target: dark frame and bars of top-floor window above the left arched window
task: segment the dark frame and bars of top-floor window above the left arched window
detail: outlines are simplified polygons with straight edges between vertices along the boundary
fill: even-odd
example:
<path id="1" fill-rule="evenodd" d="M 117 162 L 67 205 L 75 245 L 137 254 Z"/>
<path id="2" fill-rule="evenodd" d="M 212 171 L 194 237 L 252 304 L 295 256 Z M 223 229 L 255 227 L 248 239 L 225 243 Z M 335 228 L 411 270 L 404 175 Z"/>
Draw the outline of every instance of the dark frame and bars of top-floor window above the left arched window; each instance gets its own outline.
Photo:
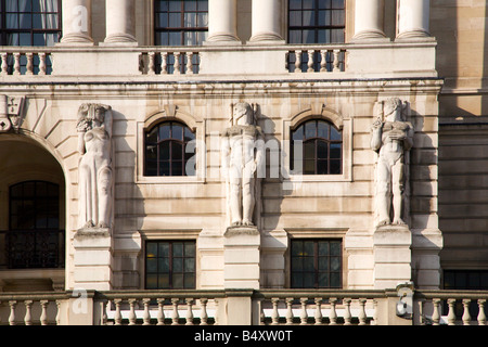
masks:
<path id="1" fill-rule="evenodd" d="M 203 42 L 206 40 L 205 33 L 208 33 L 208 0 L 197 0 L 196 1 L 196 10 L 195 11 L 187 11 L 184 9 L 184 4 L 185 4 L 184 0 L 181 1 L 181 9 L 180 9 L 180 11 L 170 11 L 169 7 L 168 7 L 167 11 L 157 11 L 157 9 L 158 9 L 157 2 L 159 0 L 154 0 L 153 1 L 153 9 L 154 9 L 154 11 L 153 11 L 154 46 L 163 46 L 163 47 L 202 46 Z M 200 10 L 198 3 L 204 2 L 204 1 L 207 3 L 206 10 Z M 167 15 L 168 15 L 168 17 L 167 17 L 168 26 L 158 26 L 158 15 L 162 14 L 162 13 L 167 13 Z M 171 13 L 179 13 L 180 14 L 180 18 L 178 21 L 180 26 L 169 26 L 169 23 L 170 23 L 169 16 L 170 16 Z M 207 14 L 207 25 L 206 26 L 198 26 L 197 25 L 195 27 L 185 26 L 184 25 L 184 15 L 187 13 L 195 13 L 196 16 L 198 16 L 198 14 L 201 14 L 201 13 L 206 13 Z M 168 44 L 162 44 L 160 42 L 157 42 L 157 40 L 158 40 L 157 36 L 158 36 L 159 33 L 168 33 L 168 35 L 171 34 L 171 33 L 179 33 L 180 34 L 180 43 L 179 44 L 169 44 L 169 42 L 170 42 L 169 37 L 168 37 Z M 202 34 L 203 35 L 202 42 L 198 42 L 198 40 L 197 40 L 197 42 L 195 44 L 185 44 L 184 35 L 188 34 L 188 33 L 194 33 L 196 35 Z"/>

